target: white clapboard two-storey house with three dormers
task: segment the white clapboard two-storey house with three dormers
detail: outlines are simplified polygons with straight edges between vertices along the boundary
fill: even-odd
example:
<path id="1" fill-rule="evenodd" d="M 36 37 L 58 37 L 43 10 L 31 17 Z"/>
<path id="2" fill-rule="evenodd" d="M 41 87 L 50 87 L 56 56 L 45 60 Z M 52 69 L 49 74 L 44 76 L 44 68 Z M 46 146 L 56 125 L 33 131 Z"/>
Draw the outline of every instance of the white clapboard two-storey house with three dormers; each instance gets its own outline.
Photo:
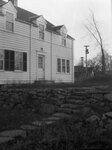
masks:
<path id="1" fill-rule="evenodd" d="M 73 41 L 64 25 L 0 0 L 0 84 L 74 82 Z"/>

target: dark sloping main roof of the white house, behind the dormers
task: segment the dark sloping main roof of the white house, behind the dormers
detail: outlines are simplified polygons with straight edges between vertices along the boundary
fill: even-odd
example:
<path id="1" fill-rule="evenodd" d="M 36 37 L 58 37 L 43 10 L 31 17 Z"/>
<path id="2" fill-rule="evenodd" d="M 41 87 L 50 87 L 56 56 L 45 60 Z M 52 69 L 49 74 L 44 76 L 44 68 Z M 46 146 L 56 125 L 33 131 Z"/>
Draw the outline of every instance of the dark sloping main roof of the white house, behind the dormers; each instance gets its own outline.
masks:
<path id="1" fill-rule="evenodd" d="M 0 6 L 6 4 L 7 2 L 3 1 L 3 0 L 0 0 Z M 23 8 L 20 8 L 20 7 L 17 7 L 15 6 L 16 10 L 17 10 L 17 19 L 20 20 L 20 21 L 23 21 L 23 22 L 26 22 L 26 23 L 31 23 L 31 19 L 32 17 L 35 17 L 35 18 L 38 18 L 40 17 L 39 15 L 37 14 L 34 14 L 30 11 L 27 11 Z M 53 25 L 52 23 L 50 23 L 49 21 L 47 21 L 47 26 L 46 26 L 46 29 L 47 30 L 50 30 L 50 31 L 53 31 L 53 32 L 56 32 L 57 34 L 59 34 L 58 30 L 60 30 L 63 25 L 61 26 L 55 26 Z M 72 38 L 71 36 L 68 35 L 68 38 Z M 72 38 L 73 39 L 73 38 Z"/>

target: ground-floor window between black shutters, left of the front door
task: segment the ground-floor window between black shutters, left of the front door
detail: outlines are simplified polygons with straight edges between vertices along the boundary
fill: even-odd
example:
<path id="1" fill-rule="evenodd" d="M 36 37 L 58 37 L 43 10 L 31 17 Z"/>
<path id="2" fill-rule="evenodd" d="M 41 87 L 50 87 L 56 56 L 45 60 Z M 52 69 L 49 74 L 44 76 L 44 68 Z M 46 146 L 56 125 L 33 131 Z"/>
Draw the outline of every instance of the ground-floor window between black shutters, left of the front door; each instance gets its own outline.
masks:
<path id="1" fill-rule="evenodd" d="M 15 70 L 23 70 L 23 53 L 15 52 Z"/>

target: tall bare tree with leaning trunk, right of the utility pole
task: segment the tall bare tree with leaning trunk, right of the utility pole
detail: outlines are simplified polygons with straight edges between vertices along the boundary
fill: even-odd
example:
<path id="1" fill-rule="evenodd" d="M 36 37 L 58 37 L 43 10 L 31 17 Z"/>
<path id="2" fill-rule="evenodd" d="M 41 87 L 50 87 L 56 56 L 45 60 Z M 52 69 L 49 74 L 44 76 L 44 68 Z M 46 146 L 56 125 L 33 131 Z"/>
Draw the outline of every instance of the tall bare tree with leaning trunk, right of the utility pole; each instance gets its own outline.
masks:
<path id="1" fill-rule="evenodd" d="M 103 47 L 103 38 L 101 32 L 98 28 L 97 22 L 94 17 L 94 13 L 91 11 L 91 20 L 88 20 L 88 25 L 84 25 L 89 34 L 95 39 L 98 46 L 100 46 L 101 54 L 102 54 L 102 73 L 105 73 L 105 54 L 104 54 L 104 47 Z"/>

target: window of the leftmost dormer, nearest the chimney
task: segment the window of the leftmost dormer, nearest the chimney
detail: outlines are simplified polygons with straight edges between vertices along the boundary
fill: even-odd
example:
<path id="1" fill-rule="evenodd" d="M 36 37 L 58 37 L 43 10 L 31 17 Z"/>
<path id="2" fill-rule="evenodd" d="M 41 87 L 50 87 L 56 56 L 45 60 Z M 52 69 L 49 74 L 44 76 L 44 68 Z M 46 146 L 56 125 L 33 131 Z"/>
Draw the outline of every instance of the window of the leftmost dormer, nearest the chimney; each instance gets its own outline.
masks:
<path id="1" fill-rule="evenodd" d="M 6 30 L 14 31 L 13 14 L 9 12 L 6 12 Z"/>

